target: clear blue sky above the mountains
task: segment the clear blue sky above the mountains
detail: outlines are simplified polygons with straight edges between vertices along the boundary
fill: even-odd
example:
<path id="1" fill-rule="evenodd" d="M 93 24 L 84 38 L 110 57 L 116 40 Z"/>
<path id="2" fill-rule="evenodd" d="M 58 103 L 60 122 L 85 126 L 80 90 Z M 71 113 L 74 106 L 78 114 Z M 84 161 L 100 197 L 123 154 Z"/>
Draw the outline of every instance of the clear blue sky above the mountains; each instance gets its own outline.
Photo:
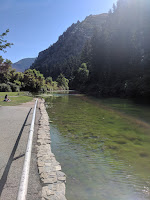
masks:
<path id="1" fill-rule="evenodd" d="M 0 34 L 14 45 L 0 52 L 13 63 L 34 58 L 78 20 L 107 13 L 117 0 L 0 0 Z"/>

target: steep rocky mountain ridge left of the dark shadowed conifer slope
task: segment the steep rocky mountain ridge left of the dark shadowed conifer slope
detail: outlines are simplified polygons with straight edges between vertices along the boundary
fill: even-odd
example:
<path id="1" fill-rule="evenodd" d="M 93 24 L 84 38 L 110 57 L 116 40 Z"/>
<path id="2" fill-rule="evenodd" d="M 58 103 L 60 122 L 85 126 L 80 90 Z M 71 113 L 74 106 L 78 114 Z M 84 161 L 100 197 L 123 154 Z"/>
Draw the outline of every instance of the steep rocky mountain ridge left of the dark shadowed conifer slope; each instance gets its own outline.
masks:
<path id="1" fill-rule="evenodd" d="M 31 68 L 39 70 L 46 77 L 54 79 L 63 73 L 70 77 L 73 68 L 87 40 L 92 38 L 95 30 L 100 32 L 106 22 L 107 14 L 90 15 L 84 21 L 73 23 L 48 49 L 39 53 Z"/>

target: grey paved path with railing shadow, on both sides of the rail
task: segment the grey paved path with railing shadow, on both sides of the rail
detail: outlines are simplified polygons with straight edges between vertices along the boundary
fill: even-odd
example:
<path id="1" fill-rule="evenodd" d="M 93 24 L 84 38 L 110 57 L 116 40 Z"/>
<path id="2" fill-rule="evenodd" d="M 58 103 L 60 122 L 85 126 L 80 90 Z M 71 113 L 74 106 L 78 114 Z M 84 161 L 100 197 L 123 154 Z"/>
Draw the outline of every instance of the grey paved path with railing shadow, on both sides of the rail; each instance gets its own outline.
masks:
<path id="1" fill-rule="evenodd" d="M 23 168 L 34 101 L 21 106 L 0 107 L 0 200 L 15 200 Z M 37 108 L 28 200 L 40 199 L 41 185 L 36 165 Z"/>

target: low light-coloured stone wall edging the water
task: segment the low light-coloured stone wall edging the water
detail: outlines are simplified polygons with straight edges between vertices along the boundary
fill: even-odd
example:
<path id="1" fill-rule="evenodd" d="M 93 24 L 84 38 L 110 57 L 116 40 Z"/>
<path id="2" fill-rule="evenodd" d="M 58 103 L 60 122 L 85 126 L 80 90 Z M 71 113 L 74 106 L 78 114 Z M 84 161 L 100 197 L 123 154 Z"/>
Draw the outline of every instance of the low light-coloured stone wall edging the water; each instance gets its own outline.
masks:
<path id="1" fill-rule="evenodd" d="M 51 152 L 49 117 L 44 100 L 40 101 L 41 119 L 37 140 L 37 165 L 42 183 L 42 200 L 66 200 L 66 175 Z"/>

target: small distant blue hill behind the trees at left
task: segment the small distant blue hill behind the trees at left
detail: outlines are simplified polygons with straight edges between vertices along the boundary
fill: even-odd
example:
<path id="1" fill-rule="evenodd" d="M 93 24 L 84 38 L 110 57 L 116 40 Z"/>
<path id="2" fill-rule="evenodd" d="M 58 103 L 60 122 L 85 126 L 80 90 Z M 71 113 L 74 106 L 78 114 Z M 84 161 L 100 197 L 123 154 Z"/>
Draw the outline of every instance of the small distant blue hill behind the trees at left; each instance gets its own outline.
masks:
<path id="1" fill-rule="evenodd" d="M 26 69 L 30 68 L 35 58 L 24 58 L 16 63 L 12 64 L 12 68 L 16 69 L 17 72 L 24 72 Z"/>

